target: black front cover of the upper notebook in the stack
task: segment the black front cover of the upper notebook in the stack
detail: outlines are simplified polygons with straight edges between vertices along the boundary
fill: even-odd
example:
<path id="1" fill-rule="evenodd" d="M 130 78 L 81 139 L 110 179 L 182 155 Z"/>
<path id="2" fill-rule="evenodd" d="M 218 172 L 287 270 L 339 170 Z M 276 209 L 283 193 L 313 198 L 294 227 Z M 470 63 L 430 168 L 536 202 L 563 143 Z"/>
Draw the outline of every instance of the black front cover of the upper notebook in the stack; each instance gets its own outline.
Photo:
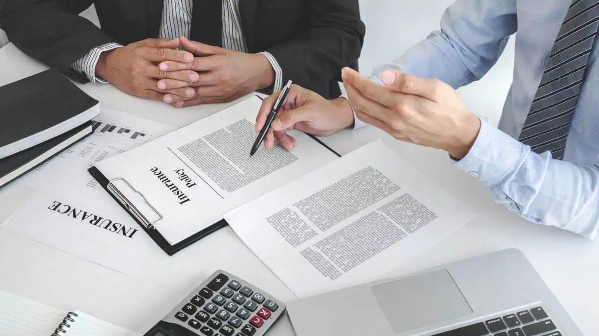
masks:
<path id="1" fill-rule="evenodd" d="M 49 69 L 0 87 L 0 147 L 49 129 L 98 104 Z"/>

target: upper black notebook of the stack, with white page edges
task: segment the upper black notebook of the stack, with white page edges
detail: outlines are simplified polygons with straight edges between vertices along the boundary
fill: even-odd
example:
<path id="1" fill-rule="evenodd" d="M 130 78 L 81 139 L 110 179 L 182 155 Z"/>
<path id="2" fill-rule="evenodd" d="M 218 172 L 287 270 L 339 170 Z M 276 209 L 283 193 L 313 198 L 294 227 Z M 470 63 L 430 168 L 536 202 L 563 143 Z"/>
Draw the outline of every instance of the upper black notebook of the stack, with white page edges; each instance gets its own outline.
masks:
<path id="1" fill-rule="evenodd" d="M 0 87 L 0 159 L 56 138 L 100 113 L 98 100 L 49 69 Z"/>

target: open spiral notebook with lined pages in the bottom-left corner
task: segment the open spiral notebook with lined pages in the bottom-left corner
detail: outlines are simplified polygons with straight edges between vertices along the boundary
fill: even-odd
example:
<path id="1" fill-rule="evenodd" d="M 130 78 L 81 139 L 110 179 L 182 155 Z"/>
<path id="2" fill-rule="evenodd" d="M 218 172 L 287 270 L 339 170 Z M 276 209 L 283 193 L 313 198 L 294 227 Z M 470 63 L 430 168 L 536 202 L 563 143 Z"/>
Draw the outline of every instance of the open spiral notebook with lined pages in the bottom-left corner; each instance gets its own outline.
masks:
<path id="1" fill-rule="evenodd" d="M 0 291 L 0 336 L 141 336 L 80 311 Z"/>

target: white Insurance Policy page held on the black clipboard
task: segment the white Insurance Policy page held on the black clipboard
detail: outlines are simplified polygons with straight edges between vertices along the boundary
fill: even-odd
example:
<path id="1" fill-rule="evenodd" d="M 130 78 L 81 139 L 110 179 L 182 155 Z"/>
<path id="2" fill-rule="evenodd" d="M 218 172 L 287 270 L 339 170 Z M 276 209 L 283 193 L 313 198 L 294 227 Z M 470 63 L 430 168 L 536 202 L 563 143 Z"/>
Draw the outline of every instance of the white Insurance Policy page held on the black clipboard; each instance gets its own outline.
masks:
<path id="1" fill-rule="evenodd" d="M 293 151 L 262 146 L 250 157 L 261 104 L 251 97 L 96 167 L 109 181 L 121 178 L 141 194 L 162 216 L 156 230 L 174 245 L 223 213 L 337 158 L 299 132 L 291 132 L 297 140 Z M 126 184 L 117 182 L 125 193 Z"/>

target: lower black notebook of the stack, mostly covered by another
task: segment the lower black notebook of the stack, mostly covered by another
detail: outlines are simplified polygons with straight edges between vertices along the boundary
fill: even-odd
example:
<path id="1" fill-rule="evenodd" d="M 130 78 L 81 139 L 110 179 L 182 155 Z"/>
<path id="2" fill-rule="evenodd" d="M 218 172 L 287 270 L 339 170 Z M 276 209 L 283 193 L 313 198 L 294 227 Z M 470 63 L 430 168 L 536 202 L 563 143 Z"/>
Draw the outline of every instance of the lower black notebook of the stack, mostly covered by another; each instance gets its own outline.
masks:
<path id="1" fill-rule="evenodd" d="M 77 126 L 74 129 L 35 145 L 17 154 L 0 159 L 0 187 L 8 184 L 24 173 L 34 169 L 38 164 L 52 158 L 73 143 L 93 133 L 92 122 Z"/>

